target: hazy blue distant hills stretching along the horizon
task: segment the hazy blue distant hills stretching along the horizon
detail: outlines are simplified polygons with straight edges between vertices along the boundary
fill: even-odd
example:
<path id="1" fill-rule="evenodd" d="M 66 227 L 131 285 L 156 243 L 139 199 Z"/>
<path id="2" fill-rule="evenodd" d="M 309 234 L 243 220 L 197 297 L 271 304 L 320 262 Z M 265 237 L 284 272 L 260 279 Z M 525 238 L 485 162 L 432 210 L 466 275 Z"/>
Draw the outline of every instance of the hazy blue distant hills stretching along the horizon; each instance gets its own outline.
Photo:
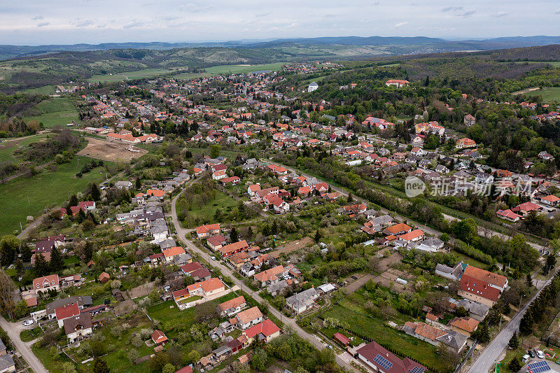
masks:
<path id="1" fill-rule="evenodd" d="M 426 36 L 333 36 L 320 38 L 282 38 L 272 41 L 223 41 L 201 43 L 102 43 L 102 44 L 72 44 L 72 45 L 0 45 L 0 60 L 33 55 L 44 55 L 52 52 L 87 52 L 94 50 L 113 49 L 146 49 L 170 50 L 175 48 L 309 48 L 321 46 L 333 50 L 345 47 L 384 47 L 378 55 L 402 55 L 426 52 L 456 52 L 460 50 L 495 50 L 505 48 L 520 48 L 537 45 L 560 43 L 560 36 L 511 36 L 503 38 L 489 38 L 484 40 L 449 41 L 442 38 Z M 348 49 L 348 48 L 343 48 Z M 359 48 L 353 48 L 358 50 Z M 374 55 L 376 48 L 367 48 L 364 55 Z M 336 54 L 336 53 L 335 53 Z M 352 55 L 359 55 L 353 52 Z"/>

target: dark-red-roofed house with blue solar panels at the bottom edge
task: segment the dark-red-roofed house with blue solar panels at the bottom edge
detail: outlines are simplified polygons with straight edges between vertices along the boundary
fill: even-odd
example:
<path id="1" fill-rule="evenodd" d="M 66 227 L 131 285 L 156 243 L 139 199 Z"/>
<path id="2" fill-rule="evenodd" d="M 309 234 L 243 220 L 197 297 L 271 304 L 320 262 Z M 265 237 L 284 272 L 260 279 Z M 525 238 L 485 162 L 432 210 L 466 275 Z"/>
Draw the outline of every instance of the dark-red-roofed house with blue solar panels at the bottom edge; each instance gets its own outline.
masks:
<path id="1" fill-rule="evenodd" d="M 356 351 L 358 360 L 379 373 L 423 373 L 426 367 L 409 358 L 400 359 L 377 342 L 370 342 Z"/>

